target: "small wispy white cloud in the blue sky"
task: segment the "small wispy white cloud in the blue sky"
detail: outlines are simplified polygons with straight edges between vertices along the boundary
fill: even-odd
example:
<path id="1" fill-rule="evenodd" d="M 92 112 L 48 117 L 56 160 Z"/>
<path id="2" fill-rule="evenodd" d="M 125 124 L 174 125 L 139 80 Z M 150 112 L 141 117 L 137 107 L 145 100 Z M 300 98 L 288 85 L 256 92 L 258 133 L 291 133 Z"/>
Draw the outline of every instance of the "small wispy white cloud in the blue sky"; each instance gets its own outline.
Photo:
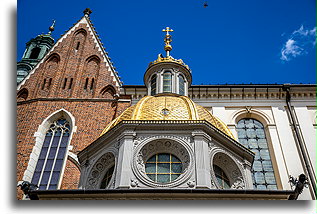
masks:
<path id="1" fill-rule="evenodd" d="M 289 36 L 289 39 L 283 45 L 280 59 L 290 61 L 297 56 L 307 54 L 315 45 L 316 27 L 309 30 L 302 25 Z"/>

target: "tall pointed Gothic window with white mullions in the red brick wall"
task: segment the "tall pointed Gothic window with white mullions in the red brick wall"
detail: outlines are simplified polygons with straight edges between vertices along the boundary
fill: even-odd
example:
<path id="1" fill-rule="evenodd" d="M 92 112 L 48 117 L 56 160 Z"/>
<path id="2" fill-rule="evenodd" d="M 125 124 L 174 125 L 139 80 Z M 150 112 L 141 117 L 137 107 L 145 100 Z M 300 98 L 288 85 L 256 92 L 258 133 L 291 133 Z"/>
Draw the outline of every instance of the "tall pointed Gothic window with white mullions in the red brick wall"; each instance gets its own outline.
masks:
<path id="1" fill-rule="evenodd" d="M 57 189 L 70 136 L 69 122 L 63 117 L 51 123 L 46 132 L 32 183 L 39 189 Z"/>

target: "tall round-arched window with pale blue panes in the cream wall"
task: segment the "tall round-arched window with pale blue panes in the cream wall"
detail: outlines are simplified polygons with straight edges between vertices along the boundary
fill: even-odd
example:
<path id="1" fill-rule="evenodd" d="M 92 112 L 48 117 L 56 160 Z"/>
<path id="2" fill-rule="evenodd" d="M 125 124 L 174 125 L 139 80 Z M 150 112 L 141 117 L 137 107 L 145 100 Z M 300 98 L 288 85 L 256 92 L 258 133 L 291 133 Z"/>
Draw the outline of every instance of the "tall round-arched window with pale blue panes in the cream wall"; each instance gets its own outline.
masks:
<path id="1" fill-rule="evenodd" d="M 262 123 L 245 118 L 237 125 L 239 142 L 255 152 L 252 166 L 253 186 L 255 189 L 277 189 L 270 152 Z"/>

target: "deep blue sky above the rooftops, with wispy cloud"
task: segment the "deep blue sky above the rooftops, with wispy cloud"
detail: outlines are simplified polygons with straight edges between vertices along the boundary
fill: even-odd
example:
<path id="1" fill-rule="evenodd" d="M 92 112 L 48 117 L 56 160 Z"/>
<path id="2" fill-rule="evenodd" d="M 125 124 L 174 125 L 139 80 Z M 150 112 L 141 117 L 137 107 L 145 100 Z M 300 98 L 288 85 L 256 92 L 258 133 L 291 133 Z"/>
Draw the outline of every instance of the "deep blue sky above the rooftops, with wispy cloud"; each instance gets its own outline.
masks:
<path id="1" fill-rule="evenodd" d="M 189 65 L 193 84 L 316 83 L 315 0 L 207 2 L 19 0 L 17 60 L 52 19 L 57 40 L 89 7 L 124 84 L 143 85 L 148 63 L 165 54 L 166 26 L 174 30 L 171 55 Z"/>

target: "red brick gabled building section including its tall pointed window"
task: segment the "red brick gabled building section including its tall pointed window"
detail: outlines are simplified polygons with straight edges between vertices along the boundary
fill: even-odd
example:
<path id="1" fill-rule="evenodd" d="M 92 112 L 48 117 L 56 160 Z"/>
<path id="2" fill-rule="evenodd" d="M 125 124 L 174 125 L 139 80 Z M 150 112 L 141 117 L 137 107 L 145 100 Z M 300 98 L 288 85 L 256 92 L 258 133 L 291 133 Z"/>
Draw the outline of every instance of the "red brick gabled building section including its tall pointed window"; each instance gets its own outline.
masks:
<path id="1" fill-rule="evenodd" d="M 131 104 L 119 96 L 122 82 L 90 14 L 86 9 L 18 85 L 17 183 L 78 188 L 77 153 Z"/>

